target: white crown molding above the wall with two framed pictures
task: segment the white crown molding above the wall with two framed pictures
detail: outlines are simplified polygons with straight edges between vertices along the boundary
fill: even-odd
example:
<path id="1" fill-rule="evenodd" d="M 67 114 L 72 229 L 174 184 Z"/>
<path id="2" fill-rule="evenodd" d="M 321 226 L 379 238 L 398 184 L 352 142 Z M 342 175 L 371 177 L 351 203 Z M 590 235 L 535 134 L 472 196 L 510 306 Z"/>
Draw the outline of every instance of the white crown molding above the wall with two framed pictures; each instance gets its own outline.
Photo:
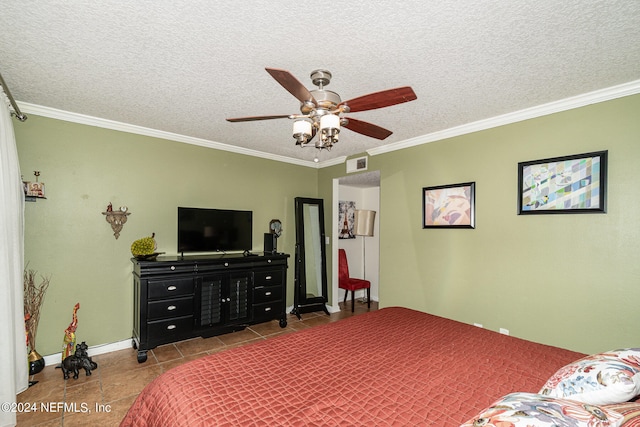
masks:
<path id="1" fill-rule="evenodd" d="M 389 153 L 392 151 L 402 150 L 404 148 L 415 147 L 417 145 L 440 141 L 455 136 L 466 135 L 473 132 L 533 119 L 536 117 L 542 117 L 549 114 L 585 107 L 591 104 L 610 101 L 612 99 L 636 95 L 638 93 L 640 93 L 640 80 L 635 80 L 621 85 L 588 92 L 570 98 L 565 98 L 560 101 L 554 101 L 548 104 L 542 104 L 535 107 L 526 108 L 524 110 L 503 114 L 501 116 L 467 123 L 461 126 L 444 129 L 442 131 L 433 132 L 404 141 L 371 148 L 367 150 L 367 154 L 375 156 L 377 154 Z"/>

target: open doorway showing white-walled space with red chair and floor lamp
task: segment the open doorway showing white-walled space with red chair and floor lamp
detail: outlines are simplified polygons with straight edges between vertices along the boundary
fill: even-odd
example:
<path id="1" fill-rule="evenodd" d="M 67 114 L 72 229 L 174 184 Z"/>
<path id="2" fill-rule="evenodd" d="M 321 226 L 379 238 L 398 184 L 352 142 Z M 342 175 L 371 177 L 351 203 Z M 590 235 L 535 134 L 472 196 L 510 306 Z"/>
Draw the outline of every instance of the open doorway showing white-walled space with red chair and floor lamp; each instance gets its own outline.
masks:
<path id="1" fill-rule="evenodd" d="M 373 236 L 341 236 L 344 224 L 339 224 L 340 202 L 349 202 L 355 209 L 376 212 Z M 351 276 L 371 282 L 371 300 L 379 301 L 380 276 L 380 171 L 350 174 L 333 180 L 332 201 L 332 280 L 331 311 L 339 311 L 344 290 L 338 288 L 338 249 L 342 248 L 349 259 Z M 344 216 L 343 216 L 344 218 Z M 341 238 L 342 237 L 342 238 Z M 364 291 L 356 292 L 356 301 L 365 297 Z M 356 304 L 358 304 L 356 302 Z"/>

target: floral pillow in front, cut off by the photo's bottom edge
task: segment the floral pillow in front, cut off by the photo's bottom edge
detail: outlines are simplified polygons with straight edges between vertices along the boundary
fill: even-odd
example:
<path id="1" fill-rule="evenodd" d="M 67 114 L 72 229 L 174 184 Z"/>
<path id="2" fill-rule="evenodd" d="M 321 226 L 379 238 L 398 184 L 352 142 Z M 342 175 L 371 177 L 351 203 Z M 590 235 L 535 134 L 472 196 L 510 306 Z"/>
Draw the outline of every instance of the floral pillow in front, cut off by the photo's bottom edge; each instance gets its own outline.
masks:
<path id="1" fill-rule="evenodd" d="M 534 393 L 511 393 L 460 427 L 619 427 L 622 415 Z"/>

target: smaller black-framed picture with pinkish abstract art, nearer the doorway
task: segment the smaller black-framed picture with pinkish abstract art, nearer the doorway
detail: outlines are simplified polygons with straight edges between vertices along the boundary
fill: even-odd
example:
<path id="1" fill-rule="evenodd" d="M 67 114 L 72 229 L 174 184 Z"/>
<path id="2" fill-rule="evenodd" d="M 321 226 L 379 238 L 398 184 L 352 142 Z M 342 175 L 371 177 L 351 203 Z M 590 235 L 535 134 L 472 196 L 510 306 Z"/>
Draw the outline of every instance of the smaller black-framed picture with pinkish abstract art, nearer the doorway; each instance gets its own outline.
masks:
<path id="1" fill-rule="evenodd" d="M 422 189 L 422 228 L 475 228 L 475 182 Z"/>

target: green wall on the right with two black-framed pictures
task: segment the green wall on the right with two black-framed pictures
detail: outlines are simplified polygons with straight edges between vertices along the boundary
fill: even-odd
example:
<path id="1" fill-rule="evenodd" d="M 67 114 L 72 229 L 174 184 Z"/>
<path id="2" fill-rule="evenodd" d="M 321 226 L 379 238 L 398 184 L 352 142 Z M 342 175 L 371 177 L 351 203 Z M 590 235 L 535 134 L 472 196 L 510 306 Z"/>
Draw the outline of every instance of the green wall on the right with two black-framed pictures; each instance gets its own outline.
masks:
<path id="1" fill-rule="evenodd" d="M 638 117 L 640 96 L 629 96 L 370 157 L 381 172 L 380 306 L 585 353 L 638 346 Z M 606 214 L 517 215 L 518 162 L 599 150 Z M 344 171 L 320 171 L 320 197 Z M 422 188 L 467 181 L 476 228 L 422 229 Z"/>

